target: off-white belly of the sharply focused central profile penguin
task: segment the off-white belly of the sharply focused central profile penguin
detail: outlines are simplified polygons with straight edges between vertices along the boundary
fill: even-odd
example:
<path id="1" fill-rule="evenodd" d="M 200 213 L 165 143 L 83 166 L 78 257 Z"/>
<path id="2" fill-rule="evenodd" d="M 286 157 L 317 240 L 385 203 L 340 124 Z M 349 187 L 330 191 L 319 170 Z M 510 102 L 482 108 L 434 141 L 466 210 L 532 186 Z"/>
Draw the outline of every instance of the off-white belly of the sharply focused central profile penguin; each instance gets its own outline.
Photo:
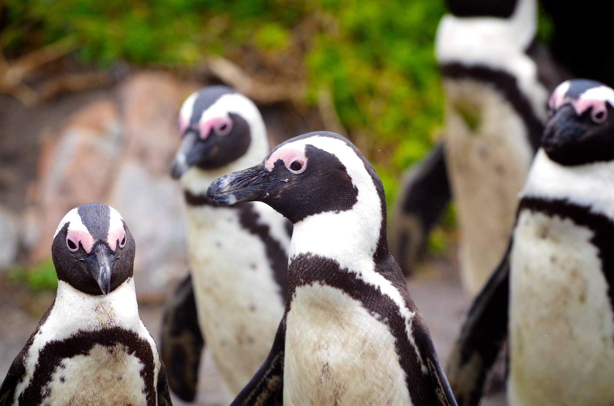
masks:
<path id="1" fill-rule="evenodd" d="M 394 337 L 348 294 L 298 287 L 286 326 L 284 405 L 411 405 Z"/>

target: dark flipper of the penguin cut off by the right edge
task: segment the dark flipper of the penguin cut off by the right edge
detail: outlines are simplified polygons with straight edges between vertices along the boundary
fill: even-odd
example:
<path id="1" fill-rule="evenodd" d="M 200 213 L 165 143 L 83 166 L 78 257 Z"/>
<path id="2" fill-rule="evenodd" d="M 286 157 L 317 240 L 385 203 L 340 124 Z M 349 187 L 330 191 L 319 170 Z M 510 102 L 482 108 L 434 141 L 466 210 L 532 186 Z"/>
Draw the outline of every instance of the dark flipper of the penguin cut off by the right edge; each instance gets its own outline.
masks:
<path id="1" fill-rule="evenodd" d="M 480 403 L 486 374 L 507 337 L 512 240 L 475 298 L 448 362 L 448 380 L 460 406 Z"/>

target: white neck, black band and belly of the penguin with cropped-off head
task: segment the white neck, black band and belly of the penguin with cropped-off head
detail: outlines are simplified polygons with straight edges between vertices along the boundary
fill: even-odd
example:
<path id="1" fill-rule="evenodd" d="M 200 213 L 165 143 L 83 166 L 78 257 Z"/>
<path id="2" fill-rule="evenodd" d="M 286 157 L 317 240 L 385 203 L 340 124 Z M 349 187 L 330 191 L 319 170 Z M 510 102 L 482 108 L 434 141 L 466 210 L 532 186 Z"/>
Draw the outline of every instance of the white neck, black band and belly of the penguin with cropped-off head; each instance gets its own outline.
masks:
<path id="1" fill-rule="evenodd" d="M 461 281 L 476 294 L 505 251 L 517 194 L 543 132 L 548 90 L 526 54 L 535 0 L 508 18 L 440 22 L 436 54 L 446 91 L 445 158 L 460 231 Z"/>

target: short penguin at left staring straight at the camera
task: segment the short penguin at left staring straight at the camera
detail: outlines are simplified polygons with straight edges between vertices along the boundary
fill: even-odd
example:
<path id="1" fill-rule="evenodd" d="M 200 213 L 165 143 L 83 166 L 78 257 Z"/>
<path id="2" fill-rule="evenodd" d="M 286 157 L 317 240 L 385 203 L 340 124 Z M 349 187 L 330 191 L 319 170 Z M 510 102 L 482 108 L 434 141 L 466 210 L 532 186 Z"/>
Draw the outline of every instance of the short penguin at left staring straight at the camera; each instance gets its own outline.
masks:
<path id="1" fill-rule="evenodd" d="M 0 405 L 171 405 L 139 318 L 134 239 L 106 204 L 72 209 L 53 237 L 58 291 L 0 387 Z"/>

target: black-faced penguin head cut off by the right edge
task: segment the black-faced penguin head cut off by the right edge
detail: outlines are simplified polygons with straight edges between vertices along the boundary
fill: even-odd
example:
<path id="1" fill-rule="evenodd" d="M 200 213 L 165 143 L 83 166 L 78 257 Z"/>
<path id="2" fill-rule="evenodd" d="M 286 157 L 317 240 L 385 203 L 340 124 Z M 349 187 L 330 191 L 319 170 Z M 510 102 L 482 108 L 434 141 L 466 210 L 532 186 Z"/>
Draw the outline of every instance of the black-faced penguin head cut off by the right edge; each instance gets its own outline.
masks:
<path id="1" fill-rule="evenodd" d="M 614 90 L 595 80 L 561 83 L 548 102 L 542 147 L 565 166 L 614 159 Z"/>

